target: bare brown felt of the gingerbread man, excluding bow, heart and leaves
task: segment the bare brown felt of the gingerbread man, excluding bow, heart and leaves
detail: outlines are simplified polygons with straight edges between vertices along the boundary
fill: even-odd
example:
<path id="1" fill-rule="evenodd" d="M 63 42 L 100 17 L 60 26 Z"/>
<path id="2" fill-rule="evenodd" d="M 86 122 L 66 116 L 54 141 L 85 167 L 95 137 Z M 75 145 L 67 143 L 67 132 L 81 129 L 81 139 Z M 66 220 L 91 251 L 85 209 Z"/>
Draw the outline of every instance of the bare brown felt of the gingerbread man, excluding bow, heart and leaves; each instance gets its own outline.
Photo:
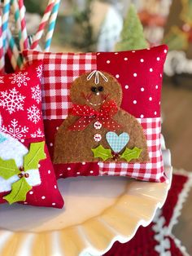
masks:
<path id="1" fill-rule="evenodd" d="M 91 90 L 91 86 L 94 84 L 94 77 L 90 81 L 87 81 L 86 77 L 89 73 L 83 74 L 81 77 L 76 78 L 72 83 L 71 88 L 71 99 L 73 104 L 87 104 L 91 108 L 98 109 L 99 106 L 90 105 L 89 102 L 98 104 L 103 100 L 101 95 L 108 95 L 107 100 L 114 100 L 118 106 L 121 104 L 122 90 L 120 84 L 116 81 L 115 77 L 112 77 L 108 73 L 103 73 L 107 78 L 108 82 L 104 82 L 100 79 L 100 83 L 97 86 L 103 86 L 104 90 L 100 95 L 95 95 Z M 84 95 L 92 95 L 89 98 L 89 102 L 85 99 Z M 75 123 L 79 117 L 68 116 L 63 121 L 62 125 L 59 126 L 59 130 L 55 135 L 55 153 L 54 162 L 59 163 L 76 163 L 82 161 L 102 161 L 101 159 L 94 158 L 94 154 L 91 148 L 97 148 L 99 144 L 102 144 L 104 148 L 110 148 L 107 143 L 106 134 L 107 128 L 102 127 L 100 130 L 94 128 L 94 121 L 81 131 L 68 130 L 68 127 Z M 117 135 L 122 132 L 129 134 L 128 148 L 142 148 L 142 153 L 137 160 L 130 162 L 146 162 L 149 161 L 148 151 L 146 146 L 146 137 L 143 134 L 142 126 L 139 124 L 137 119 L 119 108 L 116 115 L 113 117 L 115 121 L 120 124 L 120 130 L 116 131 Z M 94 135 L 98 133 L 102 135 L 102 140 L 99 142 L 94 141 Z M 108 161 L 114 161 L 112 159 Z M 123 159 L 118 161 L 122 162 Z M 125 162 L 125 161 L 124 161 Z"/>

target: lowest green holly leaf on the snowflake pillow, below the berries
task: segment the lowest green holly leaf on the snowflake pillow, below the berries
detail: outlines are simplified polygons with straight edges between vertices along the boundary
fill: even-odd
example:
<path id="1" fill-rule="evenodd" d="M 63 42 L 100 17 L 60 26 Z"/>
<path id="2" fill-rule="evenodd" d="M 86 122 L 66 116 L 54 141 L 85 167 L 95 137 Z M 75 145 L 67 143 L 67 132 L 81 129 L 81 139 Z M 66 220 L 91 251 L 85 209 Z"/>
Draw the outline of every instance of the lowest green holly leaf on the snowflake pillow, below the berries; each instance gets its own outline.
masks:
<path id="1" fill-rule="evenodd" d="M 26 179 L 21 178 L 12 184 L 11 189 L 11 193 L 3 197 L 3 199 L 7 200 L 10 205 L 17 201 L 25 201 L 26 195 L 32 187 L 28 185 Z"/>

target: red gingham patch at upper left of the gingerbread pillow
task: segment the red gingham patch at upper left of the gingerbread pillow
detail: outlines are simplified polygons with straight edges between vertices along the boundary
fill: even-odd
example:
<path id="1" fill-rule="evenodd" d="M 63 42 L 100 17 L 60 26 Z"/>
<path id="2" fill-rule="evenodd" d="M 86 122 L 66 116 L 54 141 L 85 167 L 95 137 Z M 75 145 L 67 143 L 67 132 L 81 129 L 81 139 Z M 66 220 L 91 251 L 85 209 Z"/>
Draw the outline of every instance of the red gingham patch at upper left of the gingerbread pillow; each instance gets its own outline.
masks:
<path id="1" fill-rule="evenodd" d="M 96 53 L 27 51 L 28 60 L 43 60 L 42 112 L 44 119 L 65 119 L 72 107 L 69 89 L 76 77 L 97 68 Z"/>

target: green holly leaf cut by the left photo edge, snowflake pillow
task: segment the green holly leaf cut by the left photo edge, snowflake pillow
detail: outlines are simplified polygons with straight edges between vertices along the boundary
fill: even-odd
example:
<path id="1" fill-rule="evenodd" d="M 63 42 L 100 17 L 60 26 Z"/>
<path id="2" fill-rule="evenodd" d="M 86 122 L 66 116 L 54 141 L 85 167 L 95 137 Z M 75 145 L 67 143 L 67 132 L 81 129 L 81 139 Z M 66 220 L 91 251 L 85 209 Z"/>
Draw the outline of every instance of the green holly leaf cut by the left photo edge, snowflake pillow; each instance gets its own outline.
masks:
<path id="1" fill-rule="evenodd" d="M 10 179 L 12 176 L 19 173 L 20 170 L 17 168 L 13 159 L 5 161 L 0 158 L 0 176 L 3 179 Z"/>

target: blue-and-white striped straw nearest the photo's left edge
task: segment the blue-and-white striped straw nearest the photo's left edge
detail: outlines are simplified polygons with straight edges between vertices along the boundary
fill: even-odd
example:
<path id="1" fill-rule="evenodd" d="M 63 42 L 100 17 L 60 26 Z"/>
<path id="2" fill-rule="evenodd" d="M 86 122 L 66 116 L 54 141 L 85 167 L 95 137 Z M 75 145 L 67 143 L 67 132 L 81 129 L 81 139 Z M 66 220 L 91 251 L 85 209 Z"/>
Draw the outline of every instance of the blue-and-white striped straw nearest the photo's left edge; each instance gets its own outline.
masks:
<path id="1" fill-rule="evenodd" d="M 4 53 L 6 52 L 6 48 L 7 48 L 7 29 L 8 29 L 9 12 L 10 12 L 10 0 L 4 0 L 3 8 L 2 8 L 2 42 L 4 47 Z"/>

